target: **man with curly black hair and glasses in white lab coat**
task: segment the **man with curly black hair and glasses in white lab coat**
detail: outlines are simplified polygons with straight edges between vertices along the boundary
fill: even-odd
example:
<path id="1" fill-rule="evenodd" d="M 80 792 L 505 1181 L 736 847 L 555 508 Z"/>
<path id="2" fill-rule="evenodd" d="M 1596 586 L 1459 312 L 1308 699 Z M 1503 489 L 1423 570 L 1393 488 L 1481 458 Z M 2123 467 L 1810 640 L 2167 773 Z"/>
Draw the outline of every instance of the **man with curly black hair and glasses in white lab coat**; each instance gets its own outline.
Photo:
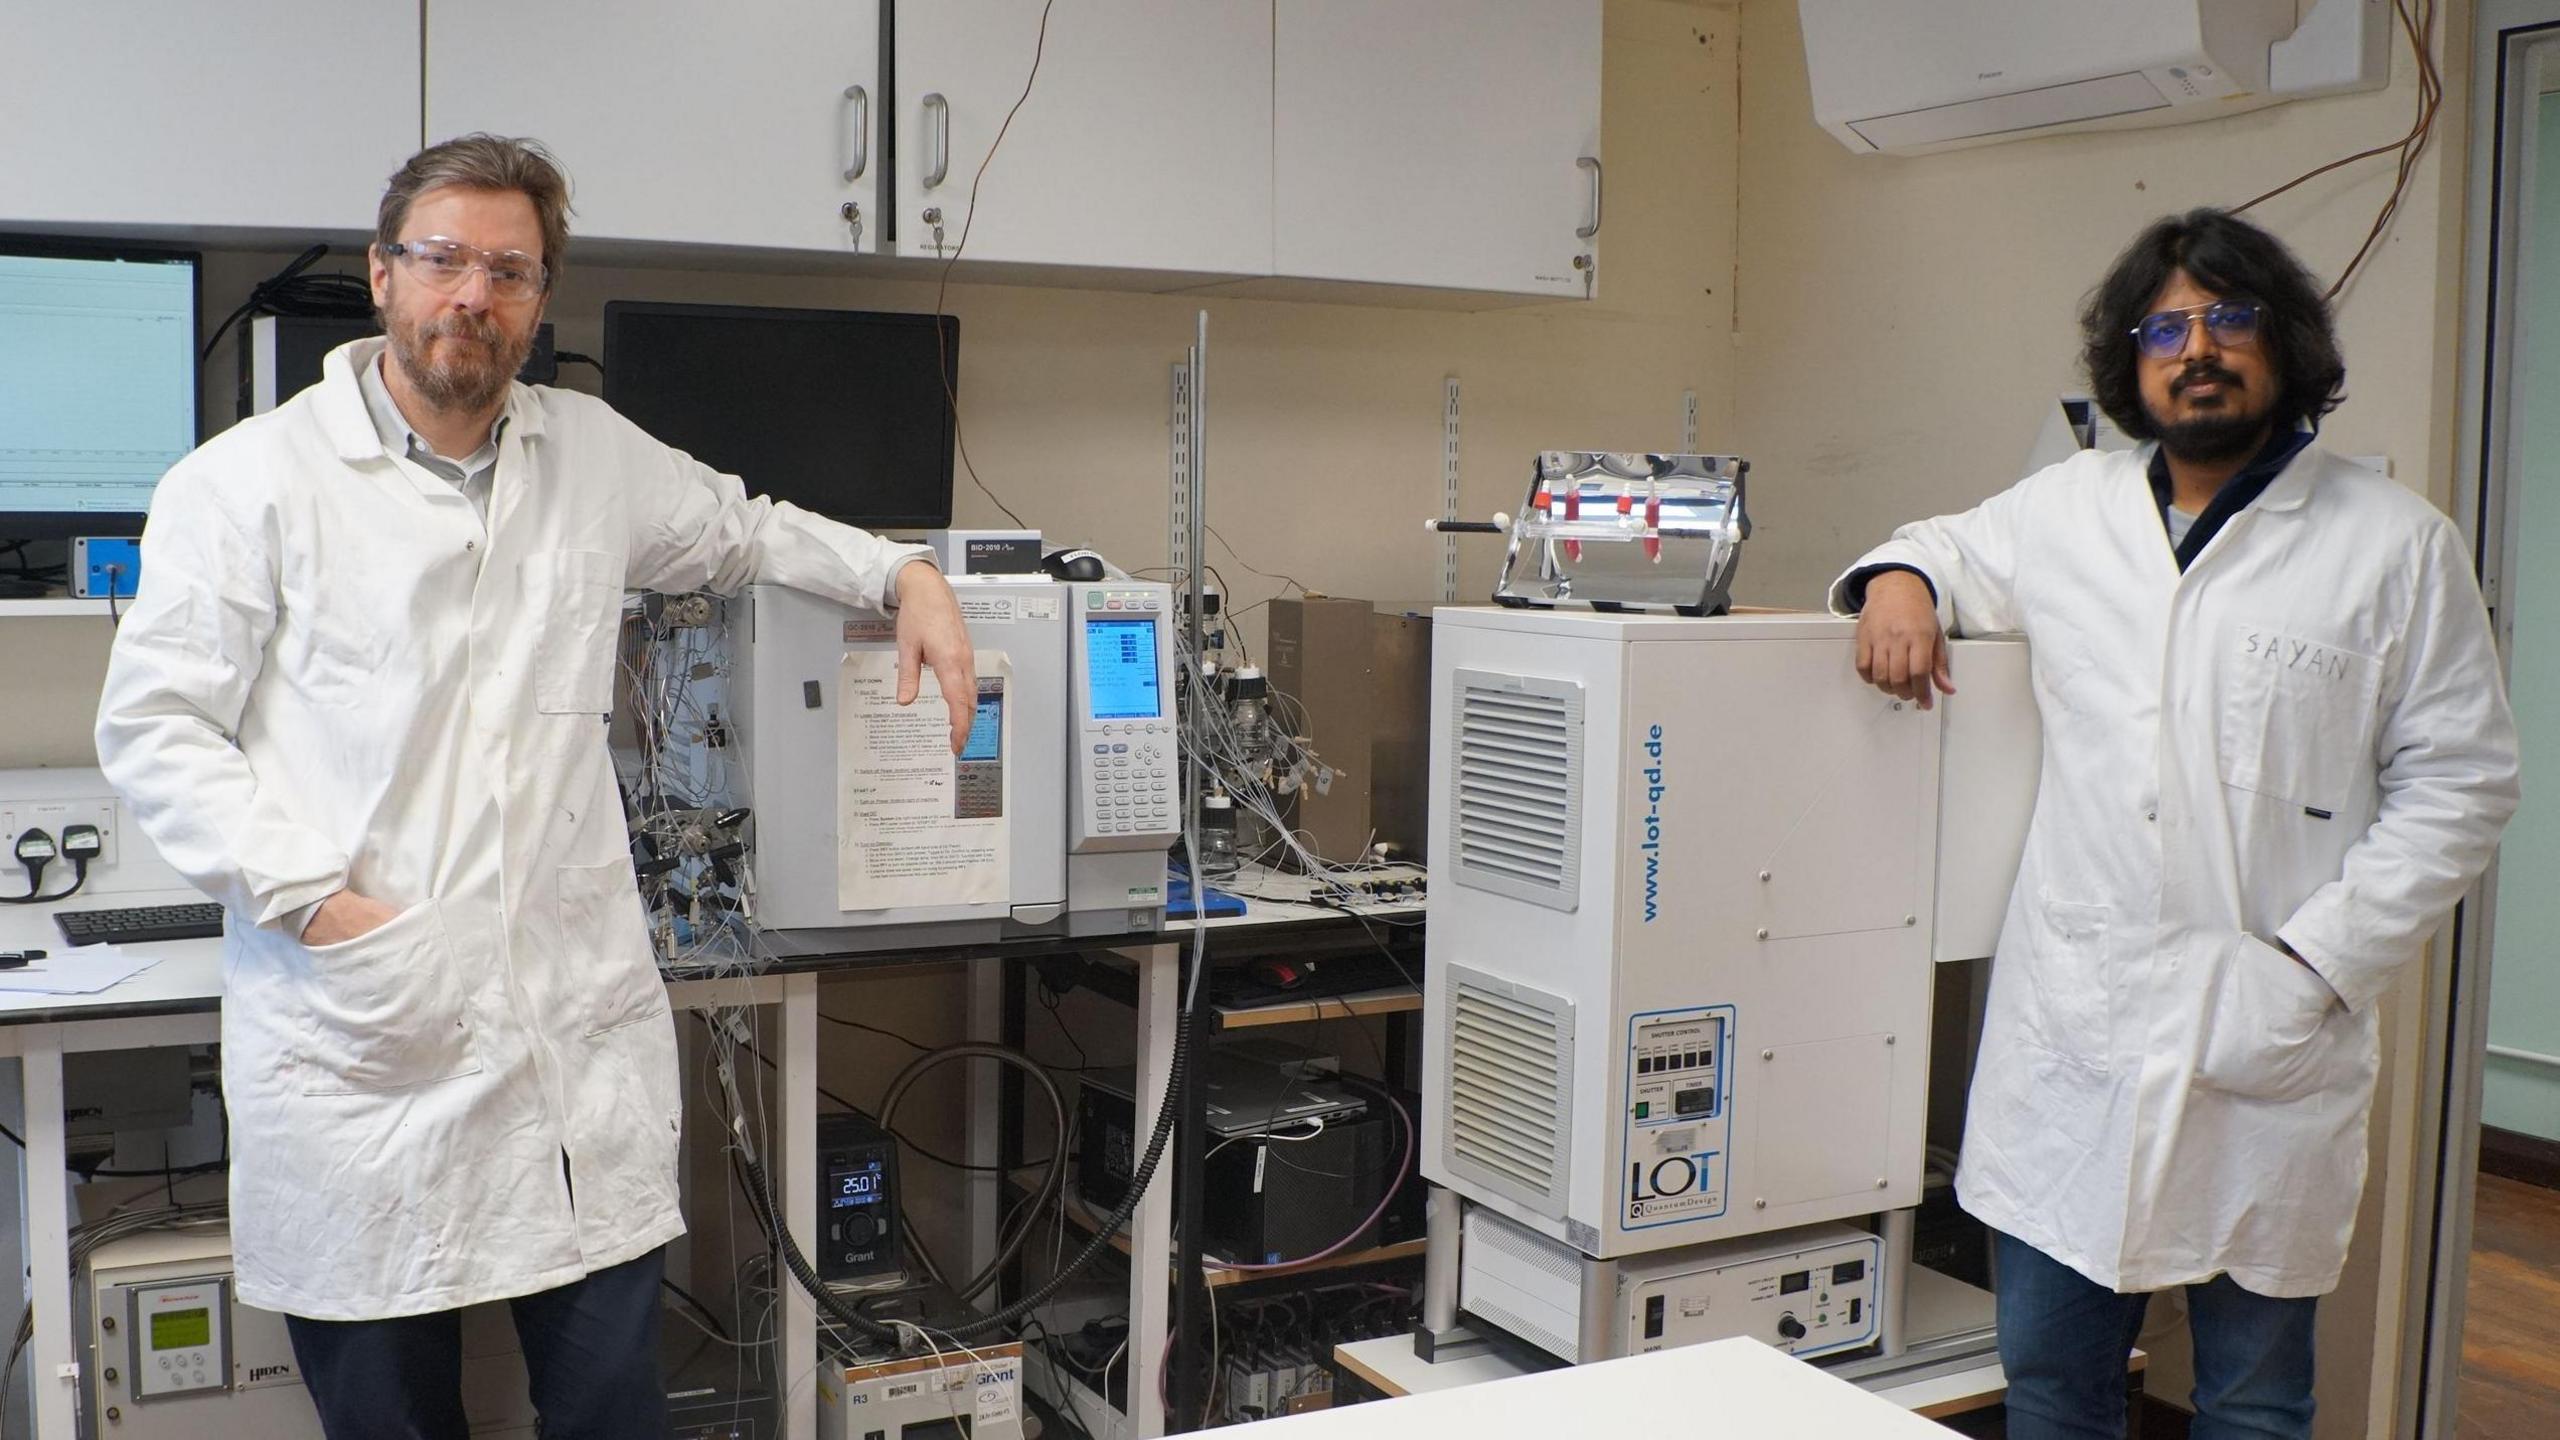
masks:
<path id="1" fill-rule="evenodd" d="M 2460 533 L 2314 443 L 2345 364 L 2284 243 L 2163 218 L 2081 341 L 2145 443 L 1905 525 L 1830 600 L 1917 705 L 1956 692 L 1951 630 L 2030 643 L 2043 779 L 1956 1176 L 1999 1245 L 2010 1437 L 2122 1435 L 2171 1286 L 2196 1435 L 2307 1437 L 2376 1002 L 2514 812 L 2514 720 Z"/>

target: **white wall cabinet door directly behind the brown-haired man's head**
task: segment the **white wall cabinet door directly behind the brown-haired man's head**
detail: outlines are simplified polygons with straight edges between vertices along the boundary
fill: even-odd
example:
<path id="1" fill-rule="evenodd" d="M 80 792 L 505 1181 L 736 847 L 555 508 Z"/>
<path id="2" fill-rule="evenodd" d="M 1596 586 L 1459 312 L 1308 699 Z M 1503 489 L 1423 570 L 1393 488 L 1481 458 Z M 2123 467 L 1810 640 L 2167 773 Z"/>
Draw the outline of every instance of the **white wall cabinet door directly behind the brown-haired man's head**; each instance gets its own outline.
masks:
<path id="1" fill-rule="evenodd" d="M 428 136 L 550 146 L 579 238 L 876 254 L 878 69 L 878 0 L 428 3 Z"/>

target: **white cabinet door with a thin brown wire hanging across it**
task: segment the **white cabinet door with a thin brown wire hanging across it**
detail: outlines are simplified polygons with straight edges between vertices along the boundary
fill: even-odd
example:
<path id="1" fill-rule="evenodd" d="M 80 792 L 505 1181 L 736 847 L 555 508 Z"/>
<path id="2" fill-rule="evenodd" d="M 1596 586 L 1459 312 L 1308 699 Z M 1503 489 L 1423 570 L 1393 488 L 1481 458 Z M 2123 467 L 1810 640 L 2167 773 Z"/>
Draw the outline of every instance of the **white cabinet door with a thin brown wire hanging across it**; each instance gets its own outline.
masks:
<path id="1" fill-rule="evenodd" d="M 1044 41 L 1039 15 L 896 8 L 896 251 L 942 259 L 968 228 L 963 264 L 1270 274 L 1272 3 L 1060 0 Z"/>

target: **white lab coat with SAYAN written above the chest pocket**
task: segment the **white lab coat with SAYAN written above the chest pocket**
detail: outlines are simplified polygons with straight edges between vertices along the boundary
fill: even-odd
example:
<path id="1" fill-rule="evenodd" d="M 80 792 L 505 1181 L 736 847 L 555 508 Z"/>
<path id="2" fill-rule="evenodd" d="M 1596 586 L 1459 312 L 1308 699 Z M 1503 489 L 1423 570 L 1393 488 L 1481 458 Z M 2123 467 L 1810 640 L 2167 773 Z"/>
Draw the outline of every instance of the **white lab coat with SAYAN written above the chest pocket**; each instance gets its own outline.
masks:
<path id="1" fill-rule="evenodd" d="M 2307 446 L 2179 574 L 2148 459 L 2079 454 L 1859 561 L 1928 574 L 1953 633 L 2025 630 L 2045 728 L 1956 1189 L 2120 1291 L 2327 1294 L 2373 1002 L 2488 863 L 2514 720 L 2424 500 Z"/>

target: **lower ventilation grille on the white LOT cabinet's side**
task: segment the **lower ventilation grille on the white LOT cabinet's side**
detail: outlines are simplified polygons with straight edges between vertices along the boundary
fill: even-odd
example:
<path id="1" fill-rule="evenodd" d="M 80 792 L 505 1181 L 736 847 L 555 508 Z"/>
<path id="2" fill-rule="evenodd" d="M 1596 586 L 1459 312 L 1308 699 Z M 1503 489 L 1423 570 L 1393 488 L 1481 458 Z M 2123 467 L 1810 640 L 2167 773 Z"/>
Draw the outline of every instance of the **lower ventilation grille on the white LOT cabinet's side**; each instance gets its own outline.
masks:
<path id="1" fill-rule="evenodd" d="M 1564 1215 L 1572 1004 L 1449 966 L 1449 1166 Z"/>

